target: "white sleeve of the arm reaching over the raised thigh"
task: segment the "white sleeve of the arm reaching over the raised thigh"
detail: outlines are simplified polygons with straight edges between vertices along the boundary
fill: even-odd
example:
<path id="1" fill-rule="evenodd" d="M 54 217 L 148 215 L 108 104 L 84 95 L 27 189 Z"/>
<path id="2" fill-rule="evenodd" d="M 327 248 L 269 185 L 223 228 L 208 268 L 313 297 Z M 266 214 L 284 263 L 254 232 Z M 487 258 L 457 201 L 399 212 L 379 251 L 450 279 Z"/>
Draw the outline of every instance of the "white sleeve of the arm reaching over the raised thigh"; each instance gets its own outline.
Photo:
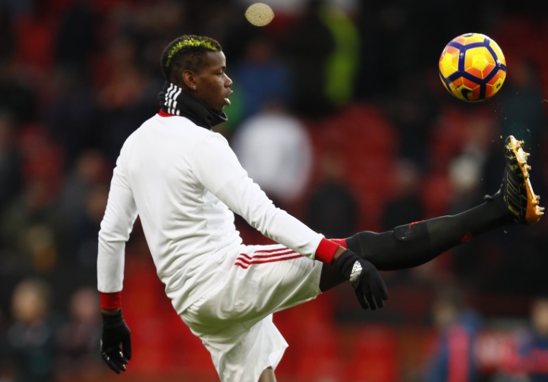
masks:
<path id="1" fill-rule="evenodd" d="M 192 158 L 197 179 L 234 213 L 266 237 L 314 259 L 323 235 L 274 206 L 258 184 L 247 176 L 222 136 L 201 141 Z"/>

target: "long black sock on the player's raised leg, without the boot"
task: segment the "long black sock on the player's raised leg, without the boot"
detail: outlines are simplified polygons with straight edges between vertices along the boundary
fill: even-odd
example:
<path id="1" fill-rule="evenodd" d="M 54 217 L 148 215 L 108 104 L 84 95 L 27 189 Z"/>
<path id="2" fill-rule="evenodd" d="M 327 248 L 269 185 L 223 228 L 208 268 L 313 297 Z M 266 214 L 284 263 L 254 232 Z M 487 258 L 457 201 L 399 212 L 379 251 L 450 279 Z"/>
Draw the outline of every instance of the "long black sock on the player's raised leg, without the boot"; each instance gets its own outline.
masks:
<path id="1" fill-rule="evenodd" d="M 458 215 L 435 217 L 382 233 L 358 232 L 347 238 L 350 250 L 379 270 L 401 270 L 427 263 L 460 243 L 512 222 L 501 198 Z"/>

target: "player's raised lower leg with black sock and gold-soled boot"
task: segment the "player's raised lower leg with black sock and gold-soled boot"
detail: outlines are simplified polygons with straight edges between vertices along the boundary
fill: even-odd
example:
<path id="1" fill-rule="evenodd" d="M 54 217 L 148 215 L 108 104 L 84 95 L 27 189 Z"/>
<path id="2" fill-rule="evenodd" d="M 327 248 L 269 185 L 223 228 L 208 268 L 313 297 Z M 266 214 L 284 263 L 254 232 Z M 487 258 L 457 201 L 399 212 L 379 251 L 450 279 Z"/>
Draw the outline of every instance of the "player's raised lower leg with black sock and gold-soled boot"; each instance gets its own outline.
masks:
<path id="1" fill-rule="evenodd" d="M 358 232 L 345 239 L 348 248 L 379 270 L 415 267 L 489 230 L 508 224 L 534 224 L 544 214 L 533 192 L 523 141 L 506 139 L 502 185 L 486 201 L 458 215 L 436 217 L 392 231 Z"/>

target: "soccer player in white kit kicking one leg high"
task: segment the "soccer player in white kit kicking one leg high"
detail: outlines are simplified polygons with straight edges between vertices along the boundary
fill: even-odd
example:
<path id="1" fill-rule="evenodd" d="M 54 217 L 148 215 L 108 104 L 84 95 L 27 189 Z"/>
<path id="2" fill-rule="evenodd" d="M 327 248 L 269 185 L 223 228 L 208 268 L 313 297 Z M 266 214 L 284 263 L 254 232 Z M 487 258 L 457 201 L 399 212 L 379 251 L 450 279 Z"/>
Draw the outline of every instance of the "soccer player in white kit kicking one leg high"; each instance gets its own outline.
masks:
<path id="1" fill-rule="evenodd" d="M 121 147 L 99 231 L 101 354 L 115 372 L 132 355 L 121 290 L 125 242 L 137 215 L 166 295 L 208 348 L 220 379 L 264 382 L 275 381 L 287 346 L 273 312 L 346 280 L 364 309 L 381 308 L 388 296 L 377 270 L 420 265 L 470 237 L 532 224 L 543 213 L 527 156 L 510 136 L 501 189 L 483 204 L 389 232 L 327 239 L 274 206 L 212 132 L 226 120 L 232 93 L 221 45 L 181 36 L 166 46 L 161 66 L 160 111 Z M 234 213 L 279 245 L 246 246 Z"/>

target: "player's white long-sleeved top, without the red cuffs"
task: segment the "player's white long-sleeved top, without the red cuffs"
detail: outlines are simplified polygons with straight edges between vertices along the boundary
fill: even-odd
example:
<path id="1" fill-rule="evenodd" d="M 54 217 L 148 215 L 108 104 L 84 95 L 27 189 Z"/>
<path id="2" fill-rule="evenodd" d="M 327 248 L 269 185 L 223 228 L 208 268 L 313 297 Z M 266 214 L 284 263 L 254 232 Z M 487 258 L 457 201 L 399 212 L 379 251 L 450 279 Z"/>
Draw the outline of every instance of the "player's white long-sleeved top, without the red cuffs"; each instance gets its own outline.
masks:
<path id="1" fill-rule="evenodd" d="M 276 208 L 221 134 L 185 117 L 154 115 L 116 160 L 99 231 L 99 291 L 122 290 L 125 243 L 139 215 L 158 276 L 182 313 L 214 285 L 225 254 L 242 244 L 231 210 L 314 259 L 323 235 Z"/>

